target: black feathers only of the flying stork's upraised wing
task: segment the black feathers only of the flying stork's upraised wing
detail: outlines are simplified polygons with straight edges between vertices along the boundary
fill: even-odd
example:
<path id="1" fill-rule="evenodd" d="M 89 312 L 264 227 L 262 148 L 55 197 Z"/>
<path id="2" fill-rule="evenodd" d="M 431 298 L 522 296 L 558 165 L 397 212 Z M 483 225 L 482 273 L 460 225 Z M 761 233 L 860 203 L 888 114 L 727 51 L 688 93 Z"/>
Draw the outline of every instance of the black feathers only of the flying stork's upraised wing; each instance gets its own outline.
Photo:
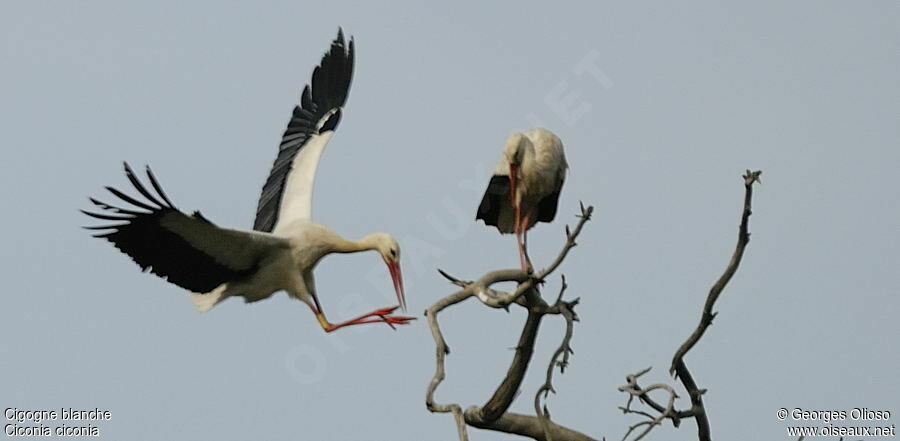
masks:
<path id="1" fill-rule="evenodd" d="M 347 101 L 350 81 L 353 78 L 353 39 L 344 42 L 344 32 L 338 30 L 331 49 L 322 57 L 319 66 L 313 70 L 312 84 L 303 88 L 300 105 L 294 108 L 291 120 L 282 136 L 278 156 L 269 178 L 263 185 L 256 208 L 253 229 L 271 232 L 278 221 L 281 197 L 287 182 L 291 165 L 297 153 L 313 135 L 334 130 L 340 121 L 339 109 Z M 327 121 L 322 121 L 329 112 L 338 109 Z"/>

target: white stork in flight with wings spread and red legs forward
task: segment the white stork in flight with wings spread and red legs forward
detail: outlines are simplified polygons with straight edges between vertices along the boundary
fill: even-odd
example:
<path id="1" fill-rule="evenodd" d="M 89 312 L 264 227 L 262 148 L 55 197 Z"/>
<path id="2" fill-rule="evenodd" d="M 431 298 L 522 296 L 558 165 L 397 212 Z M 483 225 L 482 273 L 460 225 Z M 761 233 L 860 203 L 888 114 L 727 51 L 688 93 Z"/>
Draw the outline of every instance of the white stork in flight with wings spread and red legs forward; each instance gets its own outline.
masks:
<path id="1" fill-rule="evenodd" d="M 240 296 L 256 302 L 284 290 L 309 305 L 326 332 L 365 323 L 407 324 L 413 317 L 392 315 L 406 309 L 400 274 L 400 246 L 389 234 L 373 233 L 359 241 L 343 239 L 310 220 L 313 179 L 319 157 L 341 118 L 353 75 L 353 39 L 342 31 L 313 71 L 312 87 L 303 89 L 281 140 L 278 157 L 259 199 L 254 230 L 219 227 L 200 212 L 179 211 L 147 168 L 155 194 L 128 164 L 125 175 L 144 200 L 106 187 L 131 207 L 120 208 L 91 198 L 101 213 L 83 211 L 111 225 L 86 227 L 129 255 L 144 271 L 192 292 L 200 311 Z M 313 268 L 331 253 L 374 250 L 381 254 L 394 281 L 398 306 L 381 308 L 342 323 L 325 318 L 316 293 Z"/>

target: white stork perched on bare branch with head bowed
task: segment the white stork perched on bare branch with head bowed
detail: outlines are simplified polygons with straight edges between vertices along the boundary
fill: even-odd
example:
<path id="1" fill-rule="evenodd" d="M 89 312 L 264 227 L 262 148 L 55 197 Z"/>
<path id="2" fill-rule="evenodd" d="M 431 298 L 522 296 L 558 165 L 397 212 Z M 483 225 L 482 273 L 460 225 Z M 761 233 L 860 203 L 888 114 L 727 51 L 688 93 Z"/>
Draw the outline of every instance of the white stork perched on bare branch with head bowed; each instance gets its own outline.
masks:
<path id="1" fill-rule="evenodd" d="M 538 222 L 553 221 L 568 167 L 562 141 L 547 129 L 506 139 L 475 219 L 500 233 L 516 234 L 523 270 L 528 270 L 527 231 Z"/>

